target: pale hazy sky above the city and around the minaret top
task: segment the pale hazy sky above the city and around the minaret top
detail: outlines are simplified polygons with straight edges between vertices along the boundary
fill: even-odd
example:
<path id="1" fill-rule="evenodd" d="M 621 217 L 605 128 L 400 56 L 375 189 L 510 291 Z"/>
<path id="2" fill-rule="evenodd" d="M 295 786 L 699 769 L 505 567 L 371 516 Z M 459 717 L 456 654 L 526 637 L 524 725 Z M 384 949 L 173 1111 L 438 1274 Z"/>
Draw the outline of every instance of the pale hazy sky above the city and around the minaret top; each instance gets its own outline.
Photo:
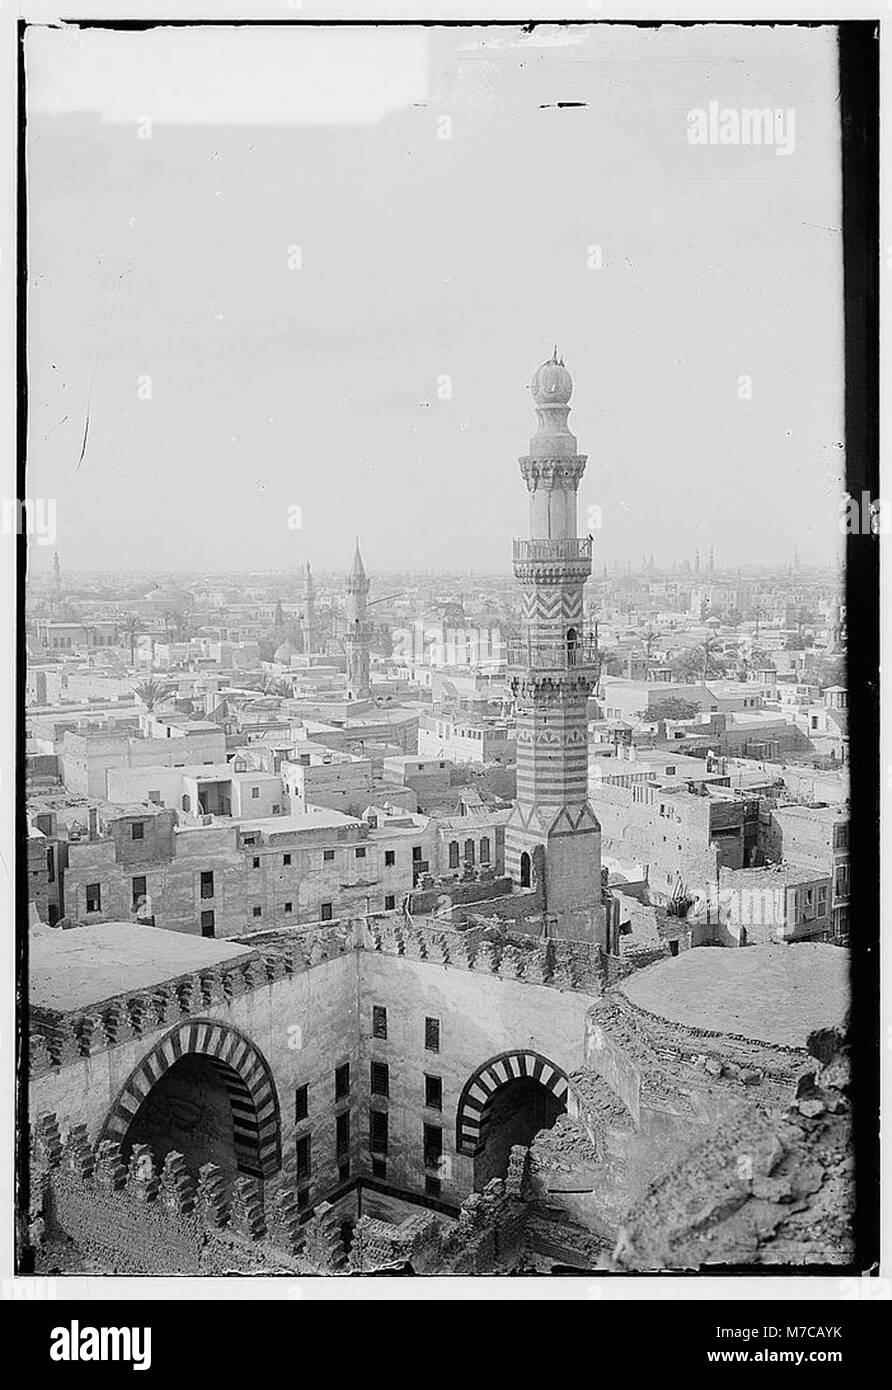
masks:
<path id="1" fill-rule="evenodd" d="M 831 559 L 835 42 L 32 28 L 28 492 L 63 566 L 346 567 L 356 532 L 370 570 L 507 566 L 553 343 L 599 559 Z M 795 152 L 692 146 L 710 100 L 793 108 Z"/>

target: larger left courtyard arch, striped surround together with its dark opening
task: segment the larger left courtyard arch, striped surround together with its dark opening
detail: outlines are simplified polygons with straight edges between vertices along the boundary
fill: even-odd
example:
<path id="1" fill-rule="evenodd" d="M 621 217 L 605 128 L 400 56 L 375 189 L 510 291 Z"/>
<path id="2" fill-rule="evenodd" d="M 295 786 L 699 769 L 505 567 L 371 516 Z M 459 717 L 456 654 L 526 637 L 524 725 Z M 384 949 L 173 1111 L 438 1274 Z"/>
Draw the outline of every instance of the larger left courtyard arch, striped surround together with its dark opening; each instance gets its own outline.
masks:
<path id="1" fill-rule="evenodd" d="M 197 1172 L 272 1177 L 282 1166 L 279 1102 L 265 1058 L 242 1033 L 213 1019 L 182 1023 L 143 1058 L 103 1131 L 128 1154 L 171 1150 Z"/>

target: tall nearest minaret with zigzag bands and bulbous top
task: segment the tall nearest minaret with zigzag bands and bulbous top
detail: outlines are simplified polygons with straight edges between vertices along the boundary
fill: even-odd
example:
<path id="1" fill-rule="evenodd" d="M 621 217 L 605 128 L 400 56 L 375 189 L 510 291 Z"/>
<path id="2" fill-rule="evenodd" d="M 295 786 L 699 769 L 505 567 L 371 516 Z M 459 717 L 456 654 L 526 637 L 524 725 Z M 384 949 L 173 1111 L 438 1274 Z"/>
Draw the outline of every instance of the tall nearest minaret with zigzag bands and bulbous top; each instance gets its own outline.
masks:
<path id="1" fill-rule="evenodd" d="M 567 428 L 572 379 L 557 349 L 532 378 L 539 428 L 520 460 L 529 492 L 529 539 L 514 542 L 524 638 L 511 691 L 517 713 L 517 801 L 506 867 L 543 887 L 549 931 L 604 945 L 600 826 L 588 802 L 586 705 L 596 644 L 582 632 L 592 538 L 577 535 L 585 455 Z"/>

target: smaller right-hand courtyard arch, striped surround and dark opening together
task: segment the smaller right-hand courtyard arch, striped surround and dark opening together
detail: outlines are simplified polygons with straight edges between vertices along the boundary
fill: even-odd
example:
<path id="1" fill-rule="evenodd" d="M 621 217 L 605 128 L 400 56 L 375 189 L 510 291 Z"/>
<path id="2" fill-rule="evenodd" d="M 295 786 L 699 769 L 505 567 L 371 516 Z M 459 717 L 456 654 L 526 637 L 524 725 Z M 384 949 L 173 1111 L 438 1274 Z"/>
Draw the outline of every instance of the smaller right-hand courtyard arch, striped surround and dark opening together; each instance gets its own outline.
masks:
<path id="1" fill-rule="evenodd" d="M 511 1148 L 550 1129 L 565 1099 L 567 1076 L 538 1052 L 503 1052 L 481 1066 L 456 1113 L 456 1151 L 474 1159 L 474 1187 L 503 1177 Z"/>

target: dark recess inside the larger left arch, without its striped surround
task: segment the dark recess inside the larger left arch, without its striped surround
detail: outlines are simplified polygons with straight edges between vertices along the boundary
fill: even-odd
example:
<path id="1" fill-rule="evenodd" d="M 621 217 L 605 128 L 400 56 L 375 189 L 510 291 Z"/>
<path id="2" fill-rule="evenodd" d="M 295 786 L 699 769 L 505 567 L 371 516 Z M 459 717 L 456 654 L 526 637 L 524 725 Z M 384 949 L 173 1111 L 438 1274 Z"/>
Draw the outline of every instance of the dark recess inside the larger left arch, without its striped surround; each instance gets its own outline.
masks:
<path id="1" fill-rule="evenodd" d="M 176 1150 L 196 1176 L 203 1163 L 217 1163 L 226 1177 L 235 1177 L 239 1155 L 222 1069 L 200 1054 L 174 1062 L 151 1087 L 124 1136 L 125 1162 L 133 1144 L 147 1144 L 156 1162 Z"/>

